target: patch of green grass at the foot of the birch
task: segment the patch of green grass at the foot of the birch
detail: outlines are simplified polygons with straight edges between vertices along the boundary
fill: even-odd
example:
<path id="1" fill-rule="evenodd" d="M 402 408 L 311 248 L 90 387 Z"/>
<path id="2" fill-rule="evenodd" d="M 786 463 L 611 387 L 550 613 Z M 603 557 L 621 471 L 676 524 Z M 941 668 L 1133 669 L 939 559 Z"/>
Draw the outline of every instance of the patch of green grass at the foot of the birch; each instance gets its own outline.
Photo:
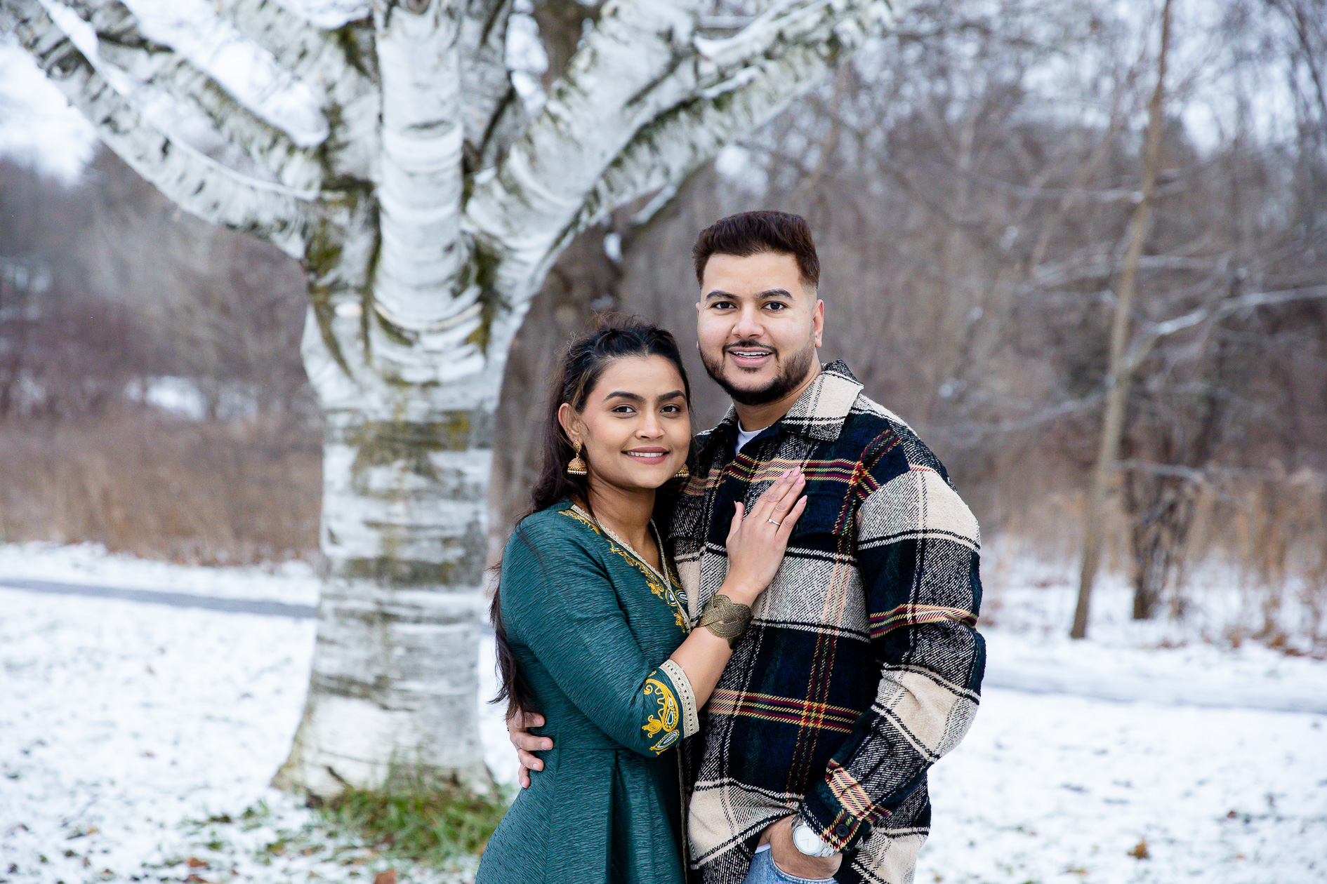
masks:
<path id="1" fill-rule="evenodd" d="M 397 777 L 382 789 L 349 789 L 318 814 L 328 828 L 353 832 L 386 856 L 443 865 L 483 850 L 508 804 L 504 793 Z"/>

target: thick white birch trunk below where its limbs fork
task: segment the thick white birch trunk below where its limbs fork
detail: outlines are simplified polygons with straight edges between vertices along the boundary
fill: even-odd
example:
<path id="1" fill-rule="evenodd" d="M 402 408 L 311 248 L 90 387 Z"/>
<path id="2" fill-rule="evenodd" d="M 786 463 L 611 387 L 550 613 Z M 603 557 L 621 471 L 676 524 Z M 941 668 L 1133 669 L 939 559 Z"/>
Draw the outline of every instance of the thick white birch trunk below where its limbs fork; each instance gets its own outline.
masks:
<path id="1" fill-rule="evenodd" d="M 495 323 L 472 310 L 462 314 L 471 343 L 402 346 L 407 333 L 372 306 L 384 288 L 370 272 L 376 241 L 362 231 L 325 266 L 305 261 L 325 574 L 309 693 L 273 785 L 329 798 L 423 775 L 486 793 L 476 667 L 507 346 L 476 346 Z"/>

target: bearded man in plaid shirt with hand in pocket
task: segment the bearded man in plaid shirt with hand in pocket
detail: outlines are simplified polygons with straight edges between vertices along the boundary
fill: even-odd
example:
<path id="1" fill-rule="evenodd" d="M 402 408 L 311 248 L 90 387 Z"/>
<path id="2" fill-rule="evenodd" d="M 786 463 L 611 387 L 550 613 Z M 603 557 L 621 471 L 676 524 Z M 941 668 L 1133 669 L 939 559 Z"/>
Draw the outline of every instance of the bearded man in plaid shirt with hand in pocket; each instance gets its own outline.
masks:
<path id="1" fill-rule="evenodd" d="M 820 266 L 802 217 L 722 219 L 694 258 L 701 357 L 734 404 L 699 436 L 670 529 L 693 623 L 723 582 L 735 502 L 790 467 L 808 502 L 689 751 L 693 868 L 706 884 L 912 881 L 926 770 L 977 712 L 977 521 L 847 364 L 821 367 Z M 523 730 L 512 742 L 547 747 Z"/>

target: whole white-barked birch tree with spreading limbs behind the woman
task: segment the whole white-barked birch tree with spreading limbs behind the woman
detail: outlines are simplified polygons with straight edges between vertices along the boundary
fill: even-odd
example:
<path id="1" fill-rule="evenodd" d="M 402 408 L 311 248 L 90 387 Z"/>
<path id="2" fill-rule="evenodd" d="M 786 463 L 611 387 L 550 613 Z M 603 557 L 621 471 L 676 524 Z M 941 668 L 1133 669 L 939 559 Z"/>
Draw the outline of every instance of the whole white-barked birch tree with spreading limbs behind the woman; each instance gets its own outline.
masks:
<path id="1" fill-rule="evenodd" d="M 328 797 L 406 769 L 487 786 L 486 498 L 532 294 L 579 231 L 674 187 L 902 1 L 774 0 L 717 21 L 698 0 L 610 0 L 537 113 L 507 64 L 511 0 L 218 4 L 196 36 L 256 45 L 275 81 L 314 97 L 301 114 L 154 40 L 142 0 L 0 0 L 0 30 L 139 175 L 303 264 L 326 577 L 277 785 Z M 150 113 L 161 97 L 240 159 L 195 150 Z"/>

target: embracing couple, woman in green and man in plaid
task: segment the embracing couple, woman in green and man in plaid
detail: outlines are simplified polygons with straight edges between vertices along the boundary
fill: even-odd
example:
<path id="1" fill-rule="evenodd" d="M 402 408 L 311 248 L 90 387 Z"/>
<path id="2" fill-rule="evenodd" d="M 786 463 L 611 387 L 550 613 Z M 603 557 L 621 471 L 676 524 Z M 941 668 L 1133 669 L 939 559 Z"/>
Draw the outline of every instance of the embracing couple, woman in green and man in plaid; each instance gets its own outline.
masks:
<path id="1" fill-rule="evenodd" d="M 694 258 L 717 427 L 640 319 L 575 341 L 549 396 L 492 604 L 525 787 L 476 884 L 912 881 L 926 770 L 977 712 L 977 521 L 820 364 L 807 223 L 735 215 Z"/>

